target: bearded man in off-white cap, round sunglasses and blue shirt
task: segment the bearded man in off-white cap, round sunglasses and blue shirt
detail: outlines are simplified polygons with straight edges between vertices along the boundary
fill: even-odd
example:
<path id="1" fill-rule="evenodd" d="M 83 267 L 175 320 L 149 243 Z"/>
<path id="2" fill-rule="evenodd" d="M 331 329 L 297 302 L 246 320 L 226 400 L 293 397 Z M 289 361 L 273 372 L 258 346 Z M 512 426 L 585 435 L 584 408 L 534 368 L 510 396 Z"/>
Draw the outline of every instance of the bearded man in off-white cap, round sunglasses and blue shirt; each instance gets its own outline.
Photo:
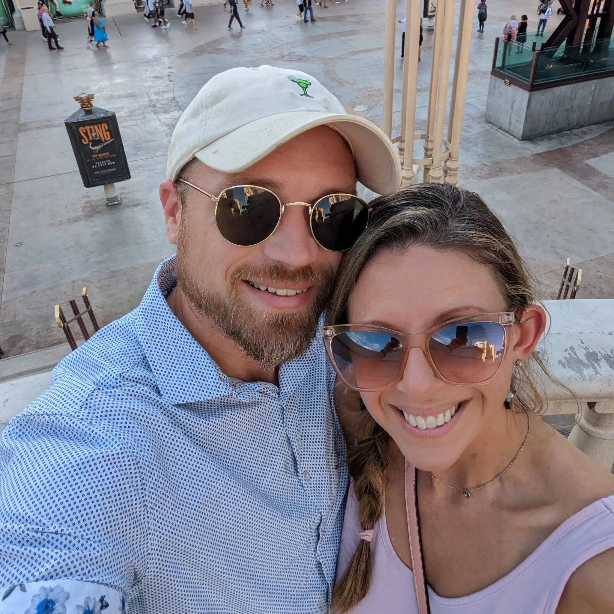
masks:
<path id="1" fill-rule="evenodd" d="M 327 612 L 348 470 L 316 333 L 397 154 L 308 74 L 235 68 L 166 177 L 176 258 L 0 440 L 0 614 Z"/>

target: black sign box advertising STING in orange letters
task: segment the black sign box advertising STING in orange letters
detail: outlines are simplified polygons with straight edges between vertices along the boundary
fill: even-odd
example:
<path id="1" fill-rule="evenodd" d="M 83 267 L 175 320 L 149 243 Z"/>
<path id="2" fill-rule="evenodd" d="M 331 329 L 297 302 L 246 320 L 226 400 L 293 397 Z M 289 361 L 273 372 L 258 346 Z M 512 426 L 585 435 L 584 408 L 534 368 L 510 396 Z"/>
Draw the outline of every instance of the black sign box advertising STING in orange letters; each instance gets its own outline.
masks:
<path id="1" fill-rule="evenodd" d="M 130 179 L 117 118 L 112 111 L 93 107 L 64 120 L 79 173 L 87 188 Z"/>

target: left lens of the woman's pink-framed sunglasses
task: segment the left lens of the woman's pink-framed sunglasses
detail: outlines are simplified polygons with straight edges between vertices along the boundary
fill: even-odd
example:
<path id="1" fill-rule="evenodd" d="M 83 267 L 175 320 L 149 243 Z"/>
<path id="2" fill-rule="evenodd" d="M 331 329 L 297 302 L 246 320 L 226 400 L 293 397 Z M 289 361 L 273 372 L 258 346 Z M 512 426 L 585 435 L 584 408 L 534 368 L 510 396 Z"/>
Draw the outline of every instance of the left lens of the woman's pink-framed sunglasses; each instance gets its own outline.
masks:
<path id="1" fill-rule="evenodd" d="M 401 342 L 386 333 L 340 333 L 333 338 L 331 349 L 341 378 L 361 390 L 390 386 L 402 362 Z"/>

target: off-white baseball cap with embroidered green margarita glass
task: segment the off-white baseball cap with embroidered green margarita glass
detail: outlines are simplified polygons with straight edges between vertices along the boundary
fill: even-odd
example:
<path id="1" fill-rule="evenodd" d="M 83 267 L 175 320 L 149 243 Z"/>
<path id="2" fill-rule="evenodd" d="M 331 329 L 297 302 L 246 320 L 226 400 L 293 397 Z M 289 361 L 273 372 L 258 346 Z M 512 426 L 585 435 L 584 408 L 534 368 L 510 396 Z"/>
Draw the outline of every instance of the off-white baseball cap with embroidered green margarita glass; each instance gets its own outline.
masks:
<path id="1" fill-rule="evenodd" d="M 192 158 L 238 173 L 316 126 L 330 126 L 348 142 L 360 183 L 378 194 L 397 190 L 401 166 L 386 134 L 346 113 L 306 72 L 274 66 L 232 68 L 203 85 L 175 126 L 166 177 L 174 181 Z"/>

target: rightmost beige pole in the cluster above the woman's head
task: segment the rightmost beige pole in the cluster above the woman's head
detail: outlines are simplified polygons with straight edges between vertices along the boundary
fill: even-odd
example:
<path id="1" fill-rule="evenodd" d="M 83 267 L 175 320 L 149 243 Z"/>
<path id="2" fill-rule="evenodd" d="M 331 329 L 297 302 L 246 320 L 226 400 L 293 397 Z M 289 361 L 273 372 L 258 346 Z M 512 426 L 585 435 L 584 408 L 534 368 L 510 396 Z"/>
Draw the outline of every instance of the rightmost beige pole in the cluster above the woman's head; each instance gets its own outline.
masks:
<path id="1" fill-rule="evenodd" d="M 472 0 L 462 0 L 461 17 L 459 18 L 459 36 L 456 43 L 456 60 L 454 61 L 454 84 L 452 91 L 452 104 L 448 122 L 448 141 L 450 142 L 450 156 L 446 161 L 446 177 L 444 181 L 449 185 L 458 182 L 459 148 L 461 146 L 462 114 L 465 107 L 465 89 L 467 88 L 467 70 L 469 66 L 469 52 L 471 49 L 471 36 L 473 28 Z"/>

